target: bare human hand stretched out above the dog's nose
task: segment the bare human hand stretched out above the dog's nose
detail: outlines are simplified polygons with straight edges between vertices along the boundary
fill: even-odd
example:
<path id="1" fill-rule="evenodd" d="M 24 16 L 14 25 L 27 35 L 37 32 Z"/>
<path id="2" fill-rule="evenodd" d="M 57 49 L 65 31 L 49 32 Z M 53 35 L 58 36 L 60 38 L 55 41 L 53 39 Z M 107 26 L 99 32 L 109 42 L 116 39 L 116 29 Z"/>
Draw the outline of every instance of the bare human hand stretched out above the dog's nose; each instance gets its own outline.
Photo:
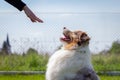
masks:
<path id="1" fill-rule="evenodd" d="M 43 21 L 41 19 L 39 19 L 27 6 L 24 6 L 23 10 L 32 22 L 43 23 Z"/>

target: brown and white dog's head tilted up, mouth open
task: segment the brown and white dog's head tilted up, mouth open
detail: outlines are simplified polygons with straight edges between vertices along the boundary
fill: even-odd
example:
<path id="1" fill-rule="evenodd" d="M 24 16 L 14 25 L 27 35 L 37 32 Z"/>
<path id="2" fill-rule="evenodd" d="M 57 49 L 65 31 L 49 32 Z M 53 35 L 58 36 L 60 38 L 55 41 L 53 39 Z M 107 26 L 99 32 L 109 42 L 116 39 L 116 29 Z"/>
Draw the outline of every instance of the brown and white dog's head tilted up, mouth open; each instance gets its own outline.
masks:
<path id="1" fill-rule="evenodd" d="M 66 49 L 74 49 L 89 44 L 90 37 L 83 31 L 70 31 L 64 27 L 63 35 L 64 37 L 60 38 L 60 40 L 65 43 Z"/>

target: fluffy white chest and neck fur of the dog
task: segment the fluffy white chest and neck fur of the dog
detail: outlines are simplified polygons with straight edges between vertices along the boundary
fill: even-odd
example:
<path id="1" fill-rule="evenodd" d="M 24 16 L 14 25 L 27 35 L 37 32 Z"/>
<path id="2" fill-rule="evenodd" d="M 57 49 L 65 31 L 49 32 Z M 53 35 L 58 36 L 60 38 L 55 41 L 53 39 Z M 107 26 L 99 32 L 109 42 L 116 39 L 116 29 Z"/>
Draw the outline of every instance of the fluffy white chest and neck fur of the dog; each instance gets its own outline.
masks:
<path id="1" fill-rule="evenodd" d="M 84 67 L 92 69 L 90 55 L 88 46 L 77 50 L 58 50 L 49 59 L 46 80 L 64 80 L 74 77 Z"/>

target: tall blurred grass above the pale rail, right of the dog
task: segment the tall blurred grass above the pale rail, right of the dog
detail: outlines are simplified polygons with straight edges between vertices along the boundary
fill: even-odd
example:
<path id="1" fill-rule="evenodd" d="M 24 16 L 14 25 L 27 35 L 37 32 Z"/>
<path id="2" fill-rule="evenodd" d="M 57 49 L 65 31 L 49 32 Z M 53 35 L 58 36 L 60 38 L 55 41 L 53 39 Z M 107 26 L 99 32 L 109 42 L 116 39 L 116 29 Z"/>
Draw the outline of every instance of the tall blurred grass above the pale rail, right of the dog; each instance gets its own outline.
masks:
<path id="1" fill-rule="evenodd" d="M 92 63 L 96 71 L 120 71 L 120 55 L 99 54 L 92 56 Z"/>

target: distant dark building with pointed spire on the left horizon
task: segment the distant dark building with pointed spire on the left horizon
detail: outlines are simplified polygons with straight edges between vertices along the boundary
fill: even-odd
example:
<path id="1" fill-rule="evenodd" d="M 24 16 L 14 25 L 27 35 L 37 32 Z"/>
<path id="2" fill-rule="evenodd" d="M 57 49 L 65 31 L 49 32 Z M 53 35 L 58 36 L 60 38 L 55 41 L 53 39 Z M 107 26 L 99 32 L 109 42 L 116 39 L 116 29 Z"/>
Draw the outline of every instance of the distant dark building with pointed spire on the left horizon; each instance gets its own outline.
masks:
<path id="1" fill-rule="evenodd" d="M 4 52 L 5 54 L 10 54 L 11 53 L 11 45 L 10 45 L 10 42 L 9 42 L 8 34 L 7 34 L 6 40 L 3 42 L 2 52 Z"/>

